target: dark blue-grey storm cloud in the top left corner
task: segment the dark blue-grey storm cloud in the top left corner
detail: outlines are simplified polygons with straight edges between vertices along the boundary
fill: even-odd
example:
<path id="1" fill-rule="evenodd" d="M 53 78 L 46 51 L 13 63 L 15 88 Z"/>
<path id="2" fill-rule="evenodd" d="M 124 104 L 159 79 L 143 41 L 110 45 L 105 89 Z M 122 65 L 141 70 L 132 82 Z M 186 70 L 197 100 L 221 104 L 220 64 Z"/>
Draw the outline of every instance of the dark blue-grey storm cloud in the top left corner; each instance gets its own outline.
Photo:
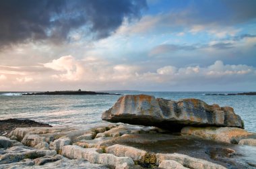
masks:
<path id="1" fill-rule="evenodd" d="M 26 40 L 63 41 L 82 26 L 93 38 L 106 38 L 125 17 L 139 18 L 145 7 L 146 0 L 0 1 L 0 46 Z"/>

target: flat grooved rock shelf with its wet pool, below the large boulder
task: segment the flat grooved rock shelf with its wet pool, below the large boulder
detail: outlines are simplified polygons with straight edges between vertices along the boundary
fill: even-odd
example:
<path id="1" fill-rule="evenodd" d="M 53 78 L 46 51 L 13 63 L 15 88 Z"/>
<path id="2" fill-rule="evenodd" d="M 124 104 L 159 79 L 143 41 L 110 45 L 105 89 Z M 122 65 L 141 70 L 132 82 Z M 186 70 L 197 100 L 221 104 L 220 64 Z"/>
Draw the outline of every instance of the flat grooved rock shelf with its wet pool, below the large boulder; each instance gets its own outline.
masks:
<path id="1" fill-rule="evenodd" d="M 243 131 L 243 129 L 239 130 Z M 164 129 L 143 125 L 117 123 L 88 129 L 16 128 L 9 137 L 18 139 L 33 148 L 27 146 L 0 148 L 0 163 L 2 163 L 0 168 L 58 168 L 57 166 L 59 168 L 82 168 L 82 166 L 94 168 L 97 166 L 141 169 L 160 166 L 168 168 L 170 164 L 177 168 L 220 168 L 220 165 L 230 168 L 256 166 L 254 159 L 244 158 L 245 154 L 255 156 L 253 147 L 242 150 L 241 148 L 249 146 L 212 142 L 188 134 L 170 134 Z M 3 139 L 21 144 L 15 140 Z"/>

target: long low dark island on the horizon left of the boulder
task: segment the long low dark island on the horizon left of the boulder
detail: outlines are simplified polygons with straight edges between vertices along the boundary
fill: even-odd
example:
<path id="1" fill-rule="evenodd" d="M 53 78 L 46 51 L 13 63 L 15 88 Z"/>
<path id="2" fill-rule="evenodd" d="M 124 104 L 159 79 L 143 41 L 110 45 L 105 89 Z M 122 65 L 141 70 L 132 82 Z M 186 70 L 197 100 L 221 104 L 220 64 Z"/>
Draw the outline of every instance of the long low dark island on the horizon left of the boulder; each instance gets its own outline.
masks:
<path id="1" fill-rule="evenodd" d="M 102 92 L 94 92 L 94 91 L 46 91 L 39 93 L 23 93 L 22 95 L 121 95 L 119 93 L 102 93 Z"/>

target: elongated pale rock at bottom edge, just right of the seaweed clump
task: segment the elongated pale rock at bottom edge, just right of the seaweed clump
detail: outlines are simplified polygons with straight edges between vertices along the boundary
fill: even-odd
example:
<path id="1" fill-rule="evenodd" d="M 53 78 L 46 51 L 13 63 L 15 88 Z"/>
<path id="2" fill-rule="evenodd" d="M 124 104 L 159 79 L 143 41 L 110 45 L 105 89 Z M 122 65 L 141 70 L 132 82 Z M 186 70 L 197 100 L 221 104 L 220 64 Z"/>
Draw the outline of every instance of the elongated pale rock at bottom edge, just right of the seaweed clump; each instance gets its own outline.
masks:
<path id="1" fill-rule="evenodd" d="M 156 158 L 158 160 L 158 163 L 161 164 L 164 160 L 174 160 L 176 162 L 179 162 L 183 166 L 187 168 L 194 168 L 194 169 L 224 169 L 224 166 L 220 166 L 218 164 L 214 164 L 212 162 L 207 162 L 205 160 L 201 160 L 198 158 L 192 158 L 190 156 L 184 155 L 184 154 L 156 154 Z"/>

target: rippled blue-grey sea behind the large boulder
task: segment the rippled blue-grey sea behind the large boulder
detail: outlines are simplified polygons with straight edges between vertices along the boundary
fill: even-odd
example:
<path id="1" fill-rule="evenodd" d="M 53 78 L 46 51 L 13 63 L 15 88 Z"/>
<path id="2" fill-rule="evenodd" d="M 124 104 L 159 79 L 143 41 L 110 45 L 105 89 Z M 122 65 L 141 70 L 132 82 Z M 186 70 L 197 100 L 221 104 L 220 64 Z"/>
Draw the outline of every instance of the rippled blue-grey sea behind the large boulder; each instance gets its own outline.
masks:
<path id="1" fill-rule="evenodd" d="M 205 95 L 205 93 L 232 92 L 141 92 L 111 91 L 122 95 L 154 95 L 178 101 L 196 98 L 207 104 L 230 106 L 245 121 L 245 129 L 256 132 L 256 96 L 244 95 Z M 110 93 L 111 93 L 110 92 Z M 237 92 L 236 92 L 237 93 Z M 38 95 L 22 96 L 20 93 L 0 93 L 0 119 L 32 119 L 50 125 L 92 127 L 108 123 L 101 115 L 112 107 L 120 95 Z"/>

